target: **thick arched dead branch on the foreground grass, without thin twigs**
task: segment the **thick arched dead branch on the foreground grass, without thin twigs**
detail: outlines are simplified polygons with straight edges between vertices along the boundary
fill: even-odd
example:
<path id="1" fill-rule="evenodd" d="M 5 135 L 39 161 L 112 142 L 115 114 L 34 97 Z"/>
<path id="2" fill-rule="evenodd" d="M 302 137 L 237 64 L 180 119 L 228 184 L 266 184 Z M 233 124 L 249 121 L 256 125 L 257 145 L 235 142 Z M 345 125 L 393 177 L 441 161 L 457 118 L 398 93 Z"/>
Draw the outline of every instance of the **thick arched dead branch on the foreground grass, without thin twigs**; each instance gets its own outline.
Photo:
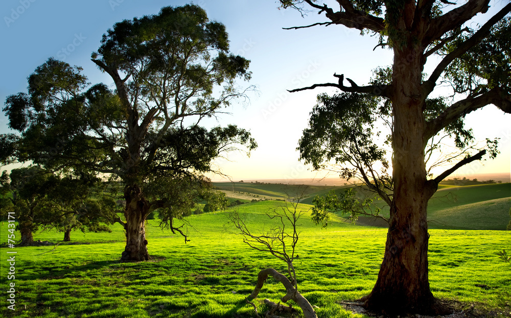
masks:
<path id="1" fill-rule="evenodd" d="M 250 296 L 247 297 L 248 302 L 251 302 L 253 299 L 255 299 L 259 295 L 259 292 L 263 288 L 264 282 L 266 281 L 268 276 L 271 276 L 271 277 L 273 277 L 273 279 L 281 282 L 284 285 L 284 287 L 286 288 L 286 295 L 281 298 L 281 301 L 283 303 L 286 303 L 288 300 L 292 300 L 304 312 L 305 318 L 317 318 L 316 313 L 314 312 L 314 308 L 312 308 L 309 301 L 305 297 L 303 297 L 301 295 L 301 293 L 298 292 L 298 290 L 296 290 L 293 283 L 291 283 L 286 276 L 282 275 L 281 273 L 278 273 L 273 268 L 266 268 L 265 270 L 262 270 L 261 272 L 259 272 L 257 284 L 255 285 L 255 288 L 252 291 L 252 293 L 250 294 Z M 290 306 L 283 306 L 280 304 L 275 304 L 270 301 L 268 301 L 266 303 L 269 307 L 272 307 L 272 309 L 266 315 L 266 317 L 268 317 L 268 318 L 278 317 L 278 316 L 273 315 L 273 313 L 277 310 L 284 310 L 284 311 L 294 310 L 294 308 L 292 308 Z M 288 309 L 286 309 L 286 308 L 288 308 Z M 282 311 L 280 311 L 280 312 L 282 312 Z"/>

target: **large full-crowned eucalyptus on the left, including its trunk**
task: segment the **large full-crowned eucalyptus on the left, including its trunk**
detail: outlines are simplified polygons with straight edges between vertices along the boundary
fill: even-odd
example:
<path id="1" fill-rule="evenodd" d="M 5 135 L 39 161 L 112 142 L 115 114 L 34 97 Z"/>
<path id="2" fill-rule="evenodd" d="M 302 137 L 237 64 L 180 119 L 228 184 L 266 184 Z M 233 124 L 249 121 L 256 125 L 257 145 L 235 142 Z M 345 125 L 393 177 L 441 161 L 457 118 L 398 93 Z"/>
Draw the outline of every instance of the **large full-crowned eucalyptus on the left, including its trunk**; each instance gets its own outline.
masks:
<path id="1" fill-rule="evenodd" d="M 7 99 L 10 126 L 23 137 L 18 157 L 123 185 L 123 261 L 150 258 L 145 220 L 156 209 L 172 209 L 172 200 L 150 192 L 151 182 L 189 179 L 214 170 L 211 162 L 223 152 L 256 146 L 236 126 L 199 126 L 246 97 L 237 83 L 250 79 L 249 61 L 229 53 L 227 37 L 225 26 L 198 6 L 165 7 L 115 23 L 103 35 L 92 62 L 113 90 L 86 89 L 80 67 L 49 59 L 29 77 L 28 94 Z"/>

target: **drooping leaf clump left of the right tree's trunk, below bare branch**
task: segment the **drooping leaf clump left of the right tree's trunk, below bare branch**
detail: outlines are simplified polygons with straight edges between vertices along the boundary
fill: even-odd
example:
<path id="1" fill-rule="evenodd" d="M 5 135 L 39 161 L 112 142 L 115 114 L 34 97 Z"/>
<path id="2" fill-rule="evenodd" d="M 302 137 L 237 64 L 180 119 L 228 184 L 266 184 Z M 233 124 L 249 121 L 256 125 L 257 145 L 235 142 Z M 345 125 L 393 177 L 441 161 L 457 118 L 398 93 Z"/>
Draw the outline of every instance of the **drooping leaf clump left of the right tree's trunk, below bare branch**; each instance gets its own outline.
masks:
<path id="1" fill-rule="evenodd" d="M 376 161 L 386 163 L 384 149 L 374 142 L 374 123 L 378 108 L 374 99 L 362 94 L 341 93 L 318 95 L 318 105 L 311 112 L 309 128 L 299 140 L 300 159 L 314 169 L 336 164 L 352 163 L 355 168 Z M 353 172 L 345 170 L 345 177 Z"/>

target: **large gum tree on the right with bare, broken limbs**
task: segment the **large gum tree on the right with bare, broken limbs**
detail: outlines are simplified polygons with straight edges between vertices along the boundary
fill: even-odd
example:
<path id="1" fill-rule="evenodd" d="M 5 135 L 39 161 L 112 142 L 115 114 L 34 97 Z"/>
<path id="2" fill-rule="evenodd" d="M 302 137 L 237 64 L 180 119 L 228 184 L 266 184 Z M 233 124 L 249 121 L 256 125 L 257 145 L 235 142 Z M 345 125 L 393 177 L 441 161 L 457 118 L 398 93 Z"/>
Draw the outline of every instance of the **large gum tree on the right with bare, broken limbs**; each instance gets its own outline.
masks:
<path id="1" fill-rule="evenodd" d="M 392 184 L 391 191 L 385 188 L 388 185 L 385 180 L 371 175 L 364 180 L 368 187 L 381 192 L 382 199 L 389 203 L 389 229 L 377 282 L 362 300 L 367 308 L 386 313 L 446 313 L 447 308 L 433 297 L 428 280 L 427 204 L 443 178 L 464 164 L 480 160 L 484 152 L 468 155 L 433 178 L 427 173 L 425 162 L 429 154 L 426 149 L 431 138 L 462 122 L 464 116 L 474 110 L 495 105 L 503 112 L 511 113 L 511 26 L 508 16 L 511 4 L 502 5 L 481 25 L 471 23 L 471 19 L 489 10 L 489 0 L 468 0 L 459 4 L 444 0 L 337 0 L 329 4 L 281 0 L 285 8 L 293 7 L 303 13 L 312 10 L 327 18 L 323 23 L 297 28 L 342 25 L 361 33 L 375 33 L 380 36 L 378 45 L 393 52 L 388 81 L 377 80 L 359 86 L 347 79 L 350 84 L 344 85 L 344 77 L 334 74 L 337 77 L 335 83 L 293 90 L 335 87 L 345 94 L 351 93 L 320 99 L 326 106 L 339 100 L 333 106 L 335 113 L 356 114 L 356 107 L 365 107 L 363 103 L 346 103 L 347 99 L 362 101 L 377 96 L 389 103 L 392 173 L 387 181 Z M 424 66 L 434 56 L 438 62 L 426 74 Z M 432 97 L 429 96 L 435 96 L 435 88 L 440 82 L 450 83 L 452 90 L 449 93 L 456 94 L 456 99 L 442 107 L 430 107 L 428 101 Z M 357 99 L 353 94 L 360 97 Z M 443 101 L 449 102 L 448 99 Z M 347 108 L 343 110 L 344 107 Z M 380 110 L 374 108 L 375 112 Z M 315 116 L 318 114 L 314 113 Z M 343 132 L 334 134 L 342 135 Z M 363 142 L 353 144 L 364 147 Z M 349 144 L 337 146 L 351 147 Z M 301 151 L 306 161 L 320 161 L 308 157 L 311 153 L 307 153 L 307 145 Z M 328 152 L 323 155 L 324 160 L 333 158 L 328 157 Z"/>

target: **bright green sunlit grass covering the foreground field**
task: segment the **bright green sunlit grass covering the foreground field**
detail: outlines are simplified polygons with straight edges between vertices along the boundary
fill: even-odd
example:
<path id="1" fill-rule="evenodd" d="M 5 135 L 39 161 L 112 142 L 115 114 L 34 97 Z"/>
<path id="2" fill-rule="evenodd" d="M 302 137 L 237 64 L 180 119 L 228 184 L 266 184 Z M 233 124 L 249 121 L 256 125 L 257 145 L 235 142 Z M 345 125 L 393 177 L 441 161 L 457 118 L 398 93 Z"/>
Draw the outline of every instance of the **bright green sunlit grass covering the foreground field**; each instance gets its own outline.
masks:
<path id="1" fill-rule="evenodd" d="M 273 202 L 273 205 L 276 204 Z M 279 203 L 282 204 L 282 203 Z M 271 202 L 239 208 L 252 227 L 266 228 L 265 212 Z M 307 209 L 308 206 L 301 206 Z M 245 214 L 244 214 L 245 213 Z M 199 232 L 184 244 L 181 236 L 148 224 L 149 262 L 120 263 L 124 250 L 122 230 L 111 240 L 94 244 L 52 247 L 1 248 L 0 279 L 2 317 L 253 317 L 244 303 L 258 272 L 284 263 L 249 249 L 240 236 L 224 226 L 226 213 L 193 216 Z M 0 235 L 4 242 L 5 227 Z M 340 301 L 367 295 L 373 287 L 383 257 L 386 230 L 331 222 L 326 230 L 307 216 L 300 226 L 298 286 L 319 317 L 349 317 Z M 476 303 L 496 312 L 511 312 L 511 266 L 497 252 L 511 251 L 507 231 L 430 231 L 430 283 L 436 297 Z M 87 237 L 94 240 L 95 234 Z M 42 240 L 60 238 L 44 232 Z M 37 237 L 36 237 L 37 238 Z M 104 241 L 99 243 L 99 241 Z M 16 278 L 7 280 L 7 251 L 16 251 Z M 42 254 L 44 253 L 44 254 Z M 16 310 L 7 309 L 7 283 L 15 282 Z M 278 301 L 280 283 L 268 279 L 255 304 Z"/>

